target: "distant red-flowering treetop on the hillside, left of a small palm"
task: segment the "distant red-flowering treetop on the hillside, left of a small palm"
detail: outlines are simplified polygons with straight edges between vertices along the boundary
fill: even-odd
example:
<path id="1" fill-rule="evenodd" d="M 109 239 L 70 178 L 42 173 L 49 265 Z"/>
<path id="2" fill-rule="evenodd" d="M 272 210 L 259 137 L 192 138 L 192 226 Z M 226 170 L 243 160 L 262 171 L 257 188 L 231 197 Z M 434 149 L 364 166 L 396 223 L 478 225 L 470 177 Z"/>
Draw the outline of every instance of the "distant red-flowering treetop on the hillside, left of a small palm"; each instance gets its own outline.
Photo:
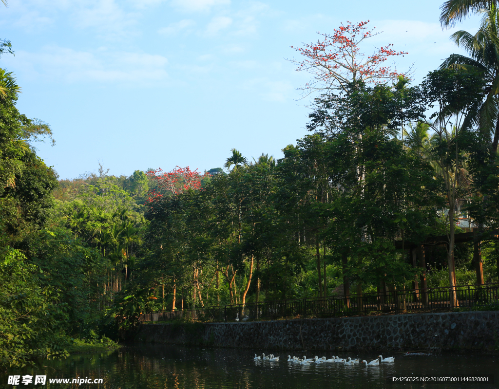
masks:
<path id="1" fill-rule="evenodd" d="M 189 189 L 199 190 L 203 179 L 198 169 L 191 171 L 189 166 L 187 168 L 177 166 L 171 172 L 164 172 L 162 169 L 151 170 L 147 172 L 147 175 L 156 182 L 156 189 L 149 193 L 149 202 L 153 202 L 168 193 L 180 194 Z"/>

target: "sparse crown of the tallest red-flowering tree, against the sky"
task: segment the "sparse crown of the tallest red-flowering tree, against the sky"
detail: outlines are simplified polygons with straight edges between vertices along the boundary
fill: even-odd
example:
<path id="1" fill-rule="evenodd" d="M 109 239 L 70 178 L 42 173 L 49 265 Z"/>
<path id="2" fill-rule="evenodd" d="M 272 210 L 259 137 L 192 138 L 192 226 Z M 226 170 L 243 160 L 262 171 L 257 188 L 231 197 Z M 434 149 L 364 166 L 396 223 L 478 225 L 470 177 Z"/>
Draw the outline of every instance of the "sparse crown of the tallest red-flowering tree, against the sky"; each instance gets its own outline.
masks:
<path id="1" fill-rule="evenodd" d="M 291 46 L 304 57 L 301 60 L 291 59 L 298 65 L 296 70 L 306 70 L 313 75 L 312 80 L 302 87 L 307 95 L 317 90 L 346 91 L 348 85 L 356 81 L 379 83 L 399 75 L 383 64 L 388 58 L 407 52 L 395 51 L 393 44 L 375 48 L 374 53 L 368 56 L 360 51 L 364 40 L 380 34 L 373 32 L 376 27 L 366 27 L 368 22 L 347 21 L 346 25 L 341 23 L 335 28 L 332 35 L 317 32 L 323 36 L 317 43 L 303 43 L 303 47 L 298 48 Z"/>

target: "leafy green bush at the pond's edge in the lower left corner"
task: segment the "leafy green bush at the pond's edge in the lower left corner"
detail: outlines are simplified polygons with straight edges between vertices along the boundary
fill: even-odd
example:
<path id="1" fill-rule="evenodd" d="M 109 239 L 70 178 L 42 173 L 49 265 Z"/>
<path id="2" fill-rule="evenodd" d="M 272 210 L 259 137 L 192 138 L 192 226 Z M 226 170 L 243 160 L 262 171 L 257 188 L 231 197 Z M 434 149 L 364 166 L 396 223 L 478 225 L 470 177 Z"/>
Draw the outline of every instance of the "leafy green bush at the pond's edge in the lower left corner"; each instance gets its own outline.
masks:
<path id="1" fill-rule="evenodd" d="M 40 270 L 25 259 L 18 250 L 0 249 L 0 368 L 68 355 L 66 306 L 53 288 L 37 284 Z"/>

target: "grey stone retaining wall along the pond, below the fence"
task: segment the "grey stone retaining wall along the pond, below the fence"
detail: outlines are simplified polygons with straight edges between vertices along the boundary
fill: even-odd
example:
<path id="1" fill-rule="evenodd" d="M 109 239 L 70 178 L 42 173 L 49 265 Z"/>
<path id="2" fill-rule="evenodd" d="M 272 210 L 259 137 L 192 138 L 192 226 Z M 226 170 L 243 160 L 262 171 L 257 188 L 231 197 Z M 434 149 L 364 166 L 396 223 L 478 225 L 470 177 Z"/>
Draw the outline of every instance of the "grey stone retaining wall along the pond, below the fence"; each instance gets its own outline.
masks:
<path id="1" fill-rule="evenodd" d="M 135 340 L 272 350 L 499 350 L 499 311 L 143 324 Z"/>

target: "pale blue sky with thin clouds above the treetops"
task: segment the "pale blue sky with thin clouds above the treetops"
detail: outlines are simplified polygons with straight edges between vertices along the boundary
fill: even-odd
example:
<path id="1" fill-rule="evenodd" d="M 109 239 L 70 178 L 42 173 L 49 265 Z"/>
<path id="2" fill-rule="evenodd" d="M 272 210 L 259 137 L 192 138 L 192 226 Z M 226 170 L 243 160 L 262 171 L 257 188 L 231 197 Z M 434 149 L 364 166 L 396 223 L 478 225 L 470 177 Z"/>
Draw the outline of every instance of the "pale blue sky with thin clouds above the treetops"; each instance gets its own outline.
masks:
<path id="1" fill-rule="evenodd" d="M 9 0 L 0 38 L 15 56 L 0 66 L 22 89 L 18 109 L 47 122 L 56 145 L 38 154 L 61 179 L 190 166 L 222 167 L 280 149 L 307 131 L 309 80 L 286 58 L 340 22 L 370 20 L 382 34 L 363 51 L 393 43 L 408 51 L 414 82 L 453 52 L 440 1 Z"/>

